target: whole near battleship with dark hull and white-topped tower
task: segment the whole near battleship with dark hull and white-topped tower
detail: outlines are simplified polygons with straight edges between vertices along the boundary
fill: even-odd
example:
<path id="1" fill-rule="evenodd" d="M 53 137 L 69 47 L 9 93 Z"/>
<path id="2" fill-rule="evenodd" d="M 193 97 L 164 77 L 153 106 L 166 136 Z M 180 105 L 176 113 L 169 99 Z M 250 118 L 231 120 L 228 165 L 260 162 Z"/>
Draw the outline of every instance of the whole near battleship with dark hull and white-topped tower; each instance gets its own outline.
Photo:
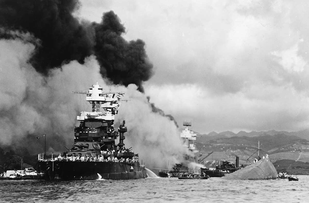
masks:
<path id="1" fill-rule="evenodd" d="M 98 82 L 87 92 L 86 101 L 92 112 L 82 111 L 75 127 L 74 145 L 57 157 L 46 159 L 38 155 L 37 171 L 45 180 L 141 179 L 147 177 L 138 154 L 126 149 L 123 140 L 127 132 L 125 121 L 114 129 L 115 114 L 124 93 L 104 92 Z M 103 110 L 101 111 L 100 108 Z M 118 134 L 119 133 L 119 134 Z M 116 138 L 119 136 L 119 143 Z"/>

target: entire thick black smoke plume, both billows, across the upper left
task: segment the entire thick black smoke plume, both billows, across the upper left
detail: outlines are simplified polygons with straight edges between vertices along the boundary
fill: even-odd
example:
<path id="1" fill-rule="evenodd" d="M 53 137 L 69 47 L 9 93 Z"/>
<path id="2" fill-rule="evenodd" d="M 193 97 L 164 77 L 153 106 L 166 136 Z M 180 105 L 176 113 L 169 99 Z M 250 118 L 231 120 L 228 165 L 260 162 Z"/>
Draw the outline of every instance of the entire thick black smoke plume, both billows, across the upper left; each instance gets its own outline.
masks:
<path id="1" fill-rule="evenodd" d="M 152 75 L 142 40 L 127 42 L 120 19 L 113 11 L 102 17 L 100 24 L 81 24 L 72 13 L 78 0 L 1 0 L 0 37 L 15 38 L 9 30 L 30 32 L 40 40 L 30 63 L 37 71 L 47 74 L 72 60 L 84 63 L 85 57 L 95 54 L 100 72 L 114 84 L 136 84 Z"/>

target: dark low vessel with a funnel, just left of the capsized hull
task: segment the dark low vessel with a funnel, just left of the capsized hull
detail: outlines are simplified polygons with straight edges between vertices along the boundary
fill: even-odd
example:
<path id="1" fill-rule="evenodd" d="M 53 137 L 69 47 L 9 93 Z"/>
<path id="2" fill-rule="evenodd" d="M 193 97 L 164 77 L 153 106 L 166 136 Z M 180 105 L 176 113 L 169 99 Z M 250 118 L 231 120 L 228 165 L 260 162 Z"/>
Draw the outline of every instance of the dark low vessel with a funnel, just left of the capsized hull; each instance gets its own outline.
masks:
<path id="1" fill-rule="evenodd" d="M 201 175 L 209 175 L 210 177 L 224 177 L 226 174 L 239 170 L 239 157 L 236 157 L 236 165 L 234 162 L 224 161 L 216 169 L 201 168 Z"/>

